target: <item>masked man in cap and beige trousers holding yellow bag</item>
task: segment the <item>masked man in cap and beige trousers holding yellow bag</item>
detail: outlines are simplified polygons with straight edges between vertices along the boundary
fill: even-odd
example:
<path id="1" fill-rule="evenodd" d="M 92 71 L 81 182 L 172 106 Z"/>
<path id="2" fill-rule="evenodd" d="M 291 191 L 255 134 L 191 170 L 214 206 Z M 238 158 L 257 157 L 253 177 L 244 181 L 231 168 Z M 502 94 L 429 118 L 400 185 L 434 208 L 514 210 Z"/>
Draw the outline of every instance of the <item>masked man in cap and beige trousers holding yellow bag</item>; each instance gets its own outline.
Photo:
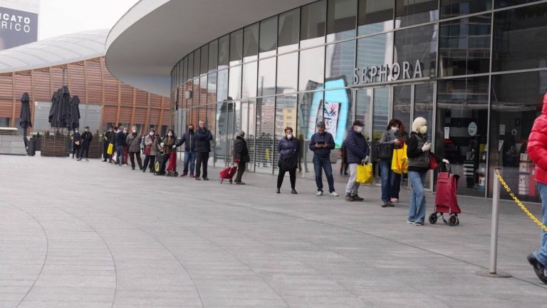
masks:
<path id="1" fill-rule="evenodd" d="M 359 197 L 358 190 L 360 183 L 357 183 L 357 165 L 360 163 L 368 163 L 370 148 L 367 140 L 363 135 L 363 122 L 355 120 L 353 127 L 348 131 L 345 137 L 345 148 L 348 152 L 348 165 L 350 168 L 350 178 L 348 185 L 345 186 L 345 200 L 348 202 L 363 201 Z"/>

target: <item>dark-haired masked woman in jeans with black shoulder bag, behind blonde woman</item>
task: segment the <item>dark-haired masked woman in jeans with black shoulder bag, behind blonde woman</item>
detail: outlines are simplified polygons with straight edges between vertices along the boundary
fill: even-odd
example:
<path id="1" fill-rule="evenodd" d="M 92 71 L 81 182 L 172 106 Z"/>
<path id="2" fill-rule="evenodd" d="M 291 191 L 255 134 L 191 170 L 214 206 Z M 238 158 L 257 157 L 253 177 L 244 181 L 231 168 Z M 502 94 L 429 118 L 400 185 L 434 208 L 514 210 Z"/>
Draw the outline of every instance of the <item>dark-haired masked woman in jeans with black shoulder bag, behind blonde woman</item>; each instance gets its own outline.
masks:
<path id="1" fill-rule="evenodd" d="M 382 207 L 392 207 L 393 202 L 399 202 L 401 175 L 391 170 L 393 149 L 402 148 L 408 134 L 400 120 L 391 119 L 380 138 L 380 144 L 390 148 L 390 158 L 380 158 L 380 175 L 382 178 Z"/>

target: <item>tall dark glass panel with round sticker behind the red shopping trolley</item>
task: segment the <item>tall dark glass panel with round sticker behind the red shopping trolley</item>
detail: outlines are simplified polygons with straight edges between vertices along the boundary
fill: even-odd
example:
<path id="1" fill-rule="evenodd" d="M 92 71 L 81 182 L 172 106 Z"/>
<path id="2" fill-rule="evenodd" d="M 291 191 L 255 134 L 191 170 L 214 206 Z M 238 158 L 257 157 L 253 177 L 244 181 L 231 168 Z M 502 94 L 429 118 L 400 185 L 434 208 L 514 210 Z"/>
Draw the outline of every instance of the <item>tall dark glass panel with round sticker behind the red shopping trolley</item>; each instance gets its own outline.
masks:
<path id="1" fill-rule="evenodd" d="M 452 173 L 461 176 L 457 193 L 484 196 L 488 76 L 438 81 L 436 118 L 434 153 L 447 158 Z M 470 128 L 475 129 L 470 133 Z"/>

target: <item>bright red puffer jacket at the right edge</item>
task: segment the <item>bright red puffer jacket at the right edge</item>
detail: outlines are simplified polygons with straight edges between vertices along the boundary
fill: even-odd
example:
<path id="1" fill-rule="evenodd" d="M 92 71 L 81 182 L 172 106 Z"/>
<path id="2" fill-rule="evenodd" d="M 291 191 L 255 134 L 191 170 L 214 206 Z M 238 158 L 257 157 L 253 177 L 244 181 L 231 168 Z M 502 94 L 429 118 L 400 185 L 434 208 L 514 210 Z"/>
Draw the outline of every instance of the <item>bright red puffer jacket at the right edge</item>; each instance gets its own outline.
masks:
<path id="1" fill-rule="evenodd" d="M 527 150 L 528 156 L 536 164 L 536 182 L 547 184 L 547 93 L 543 96 L 541 115 L 533 121 Z"/>

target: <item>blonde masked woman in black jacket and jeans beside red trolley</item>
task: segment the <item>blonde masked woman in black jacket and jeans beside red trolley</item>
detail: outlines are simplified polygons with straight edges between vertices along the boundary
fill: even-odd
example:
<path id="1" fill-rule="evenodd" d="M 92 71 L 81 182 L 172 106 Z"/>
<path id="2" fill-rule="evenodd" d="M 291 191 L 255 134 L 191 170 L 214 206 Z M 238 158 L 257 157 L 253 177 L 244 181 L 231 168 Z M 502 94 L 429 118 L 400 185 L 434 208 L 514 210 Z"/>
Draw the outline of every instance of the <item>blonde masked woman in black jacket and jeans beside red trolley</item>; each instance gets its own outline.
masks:
<path id="1" fill-rule="evenodd" d="M 422 226 L 425 221 L 425 175 L 429 170 L 429 158 L 434 156 L 431 152 L 431 143 L 427 141 L 427 120 L 422 117 L 415 118 L 412 122 L 412 133 L 407 143 L 407 156 L 408 180 L 412 184 L 407 223 Z M 445 159 L 442 162 L 449 163 Z"/>

